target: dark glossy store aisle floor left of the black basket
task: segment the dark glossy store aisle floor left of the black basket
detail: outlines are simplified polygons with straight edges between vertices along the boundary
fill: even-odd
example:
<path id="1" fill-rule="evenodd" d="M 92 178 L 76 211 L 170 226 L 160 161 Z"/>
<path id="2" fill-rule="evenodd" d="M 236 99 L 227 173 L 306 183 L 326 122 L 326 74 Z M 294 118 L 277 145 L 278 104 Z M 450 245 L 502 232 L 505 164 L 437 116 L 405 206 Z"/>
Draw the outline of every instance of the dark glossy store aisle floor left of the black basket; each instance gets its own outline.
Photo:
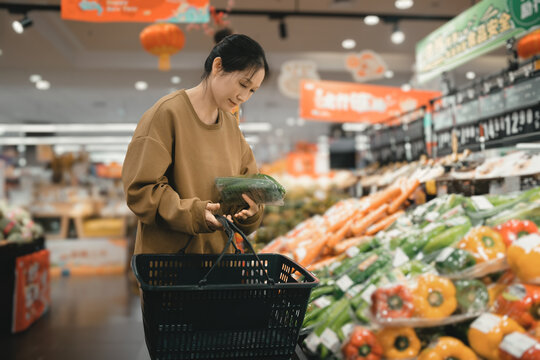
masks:
<path id="1" fill-rule="evenodd" d="M 139 297 L 126 276 L 53 279 L 51 302 L 26 332 L 0 338 L 1 359 L 150 359 Z"/>

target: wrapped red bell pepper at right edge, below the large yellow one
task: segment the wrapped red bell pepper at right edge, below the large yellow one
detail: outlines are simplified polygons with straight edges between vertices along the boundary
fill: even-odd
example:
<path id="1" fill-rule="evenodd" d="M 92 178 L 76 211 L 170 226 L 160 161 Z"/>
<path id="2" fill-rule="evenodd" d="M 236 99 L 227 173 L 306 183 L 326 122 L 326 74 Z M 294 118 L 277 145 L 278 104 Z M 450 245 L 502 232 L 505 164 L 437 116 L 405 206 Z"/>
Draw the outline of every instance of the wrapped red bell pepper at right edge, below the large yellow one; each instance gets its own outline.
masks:
<path id="1" fill-rule="evenodd" d="M 507 315 L 525 328 L 538 325 L 540 320 L 540 286 L 513 284 L 495 300 L 495 312 Z"/>

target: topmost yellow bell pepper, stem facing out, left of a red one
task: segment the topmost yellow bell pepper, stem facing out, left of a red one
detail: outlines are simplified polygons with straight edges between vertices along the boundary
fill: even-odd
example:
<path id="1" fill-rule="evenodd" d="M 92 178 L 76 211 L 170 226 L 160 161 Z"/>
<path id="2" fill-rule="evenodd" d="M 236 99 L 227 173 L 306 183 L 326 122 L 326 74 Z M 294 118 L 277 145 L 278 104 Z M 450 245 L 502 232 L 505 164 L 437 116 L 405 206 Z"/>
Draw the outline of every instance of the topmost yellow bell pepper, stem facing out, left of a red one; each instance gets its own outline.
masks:
<path id="1" fill-rule="evenodd" d="M 470 251 L 477 263 L 504 257 L 506 245 L 497 231 L 487 226 L 479 226 L 458 243 L 458 248 Z"/>

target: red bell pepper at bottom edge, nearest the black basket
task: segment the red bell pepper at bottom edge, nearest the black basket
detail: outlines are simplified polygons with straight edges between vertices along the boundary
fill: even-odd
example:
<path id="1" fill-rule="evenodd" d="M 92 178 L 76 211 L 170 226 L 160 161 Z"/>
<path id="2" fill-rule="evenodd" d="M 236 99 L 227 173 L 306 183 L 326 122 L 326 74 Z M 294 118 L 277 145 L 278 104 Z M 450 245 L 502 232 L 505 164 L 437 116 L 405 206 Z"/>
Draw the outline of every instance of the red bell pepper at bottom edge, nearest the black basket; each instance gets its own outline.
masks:
<path id="1" fill-rule="evenodd" d="M 349 342 L 343 347 L 346 360 L 380 360 L 382 353 L 377 337 L 361 326 L 354 328 Z"/>

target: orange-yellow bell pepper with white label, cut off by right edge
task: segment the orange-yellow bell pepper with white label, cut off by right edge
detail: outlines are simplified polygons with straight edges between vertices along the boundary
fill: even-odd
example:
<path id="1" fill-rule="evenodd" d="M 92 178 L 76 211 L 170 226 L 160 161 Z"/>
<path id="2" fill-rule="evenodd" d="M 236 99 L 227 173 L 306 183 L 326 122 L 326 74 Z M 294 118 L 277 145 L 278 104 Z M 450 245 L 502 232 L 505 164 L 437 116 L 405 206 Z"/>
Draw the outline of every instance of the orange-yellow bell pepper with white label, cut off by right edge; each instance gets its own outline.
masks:
<path id="1" fill-rule="evenodd" d="M 540 280 L 540 235 L 528 235 L 515 241 L 508 248 L 507 261 L 521 281 Z"/>

